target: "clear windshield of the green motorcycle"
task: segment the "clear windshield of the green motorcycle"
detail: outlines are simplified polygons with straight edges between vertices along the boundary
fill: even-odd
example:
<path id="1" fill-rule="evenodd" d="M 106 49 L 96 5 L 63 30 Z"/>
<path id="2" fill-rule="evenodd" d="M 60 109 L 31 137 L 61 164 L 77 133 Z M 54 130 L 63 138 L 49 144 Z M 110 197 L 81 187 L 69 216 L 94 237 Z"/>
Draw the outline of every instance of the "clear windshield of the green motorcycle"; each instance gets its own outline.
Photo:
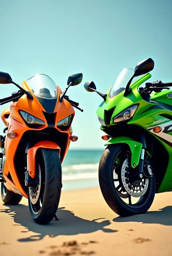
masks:
<path id="1" fill-rule="evenodd" d="M 132 69 L 132 68 L 123 69 L 119 73 L 118 77 L 115 79 L 115 82 L 111 87 L 109 96 L 114 97 L 114 96 L 118 95 L 119 93 L 123 92 L 126 89 L 126 85 L 128 84 L 128 81 L 133 76 L 133 74 L 134 74 L 134 69 Z M 137 81 L 140 77 L 142 77 L 142 76 L 134 77 L 131 84 L 133 84 L 135 81 Z"/>

